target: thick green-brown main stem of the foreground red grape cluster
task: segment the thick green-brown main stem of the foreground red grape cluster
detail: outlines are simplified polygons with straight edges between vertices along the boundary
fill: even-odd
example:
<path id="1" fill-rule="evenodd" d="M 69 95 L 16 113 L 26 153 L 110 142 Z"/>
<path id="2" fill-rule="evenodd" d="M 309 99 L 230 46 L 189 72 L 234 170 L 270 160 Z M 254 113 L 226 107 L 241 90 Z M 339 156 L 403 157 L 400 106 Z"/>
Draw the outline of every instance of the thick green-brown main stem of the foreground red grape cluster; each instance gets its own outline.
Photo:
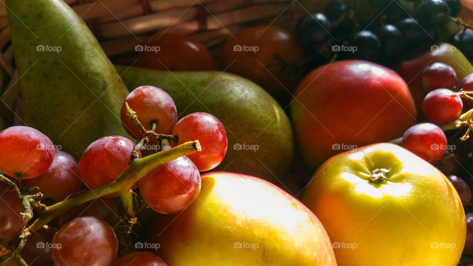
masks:
<path id="1" fill-rule="evenodd" d="M 54 205 L 44 207 L 44 211 L 41 217 L 34 221 L 34 223 L 30 225 L 27 230 L 29 232 L 37 231 L 65 210 L 83 204 L 92 199 L 97 199 L 102 196 L 114 193 L 119 194 L 120 197 L 126 194 L 132 196 L 131 188 L 133 187 L 133 185 L 149 171 L 167 162 L 175 160 L 181 156 L 189 155 L 197 151 L 202 151 L 199 140 L 188 141 L 169 150 L 163 150 L 153 155 L 136 159 L 114 181 L 97 187 L 93 190 L 87 191 L 86 193 L 81 194 L 78 197 L 66 199 Z"/>

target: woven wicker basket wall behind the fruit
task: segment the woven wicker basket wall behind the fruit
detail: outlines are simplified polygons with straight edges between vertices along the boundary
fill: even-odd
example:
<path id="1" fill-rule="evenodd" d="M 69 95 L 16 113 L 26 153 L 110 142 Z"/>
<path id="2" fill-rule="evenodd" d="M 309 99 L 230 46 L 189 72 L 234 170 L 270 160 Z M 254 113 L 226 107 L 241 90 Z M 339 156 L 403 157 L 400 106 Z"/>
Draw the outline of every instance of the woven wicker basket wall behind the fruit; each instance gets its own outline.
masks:
<path id="1" fill-rule="evenodd" d="M 116 64 L 135 61 L 135 45 L 153 34 L 172 32 L 194 38 L 217 59 L 225 40 L 245 27 L 277 25 L 289 31 L 307 12 L 330 0 L 65 0 L 89 25 Z M 460 16 L 473 24 L 473 0 L 462 0 Z M 18 74 L 4 2 L 0 3 L 0 131 L 20 110 Z M 6 123 L 5 123 L 6 122 Z"/>

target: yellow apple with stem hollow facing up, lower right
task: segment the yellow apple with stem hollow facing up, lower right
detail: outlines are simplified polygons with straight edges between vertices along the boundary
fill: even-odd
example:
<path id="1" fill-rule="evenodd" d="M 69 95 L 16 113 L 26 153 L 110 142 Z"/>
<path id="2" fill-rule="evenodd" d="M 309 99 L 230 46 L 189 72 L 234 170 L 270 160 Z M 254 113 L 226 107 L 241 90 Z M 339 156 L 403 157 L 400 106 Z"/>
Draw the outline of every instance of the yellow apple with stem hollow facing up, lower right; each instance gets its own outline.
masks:
<path id="1" fill-rule="evenodd" d="M 456 266 L 465 244 L 455 188 L 394 144 L 330 158 L 302 201 L 327 229 L 338 266 Z"/>

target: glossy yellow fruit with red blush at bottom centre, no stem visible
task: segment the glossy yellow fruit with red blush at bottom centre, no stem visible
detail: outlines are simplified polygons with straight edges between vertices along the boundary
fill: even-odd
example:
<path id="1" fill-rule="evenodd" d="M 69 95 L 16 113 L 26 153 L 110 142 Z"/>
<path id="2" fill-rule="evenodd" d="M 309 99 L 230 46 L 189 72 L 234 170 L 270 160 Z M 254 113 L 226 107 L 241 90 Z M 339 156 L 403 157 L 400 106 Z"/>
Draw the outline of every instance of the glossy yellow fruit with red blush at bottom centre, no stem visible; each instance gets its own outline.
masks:
<path id="1" fill-rule="evenodd" d="M 325 229 L 299 200 L 262 179 L 202 176 L 184 211 L 158 215 L 149 247 L 170 266 L 336 266 Z"/>

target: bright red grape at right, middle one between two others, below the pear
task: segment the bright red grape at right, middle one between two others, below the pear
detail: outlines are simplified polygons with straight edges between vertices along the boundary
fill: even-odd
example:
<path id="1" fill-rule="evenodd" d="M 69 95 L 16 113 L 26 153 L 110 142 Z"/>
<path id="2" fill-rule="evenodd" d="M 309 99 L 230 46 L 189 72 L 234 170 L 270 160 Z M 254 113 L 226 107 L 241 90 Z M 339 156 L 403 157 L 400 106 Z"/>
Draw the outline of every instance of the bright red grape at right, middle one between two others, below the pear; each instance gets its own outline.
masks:
<path id="1" fill-rule="evenodd" d="M 422 110 L 431 122 L 442 124 L 455 120 L 462 114 L 463 102 L 458 93 L 436 89 L 424 98 Z"/>

